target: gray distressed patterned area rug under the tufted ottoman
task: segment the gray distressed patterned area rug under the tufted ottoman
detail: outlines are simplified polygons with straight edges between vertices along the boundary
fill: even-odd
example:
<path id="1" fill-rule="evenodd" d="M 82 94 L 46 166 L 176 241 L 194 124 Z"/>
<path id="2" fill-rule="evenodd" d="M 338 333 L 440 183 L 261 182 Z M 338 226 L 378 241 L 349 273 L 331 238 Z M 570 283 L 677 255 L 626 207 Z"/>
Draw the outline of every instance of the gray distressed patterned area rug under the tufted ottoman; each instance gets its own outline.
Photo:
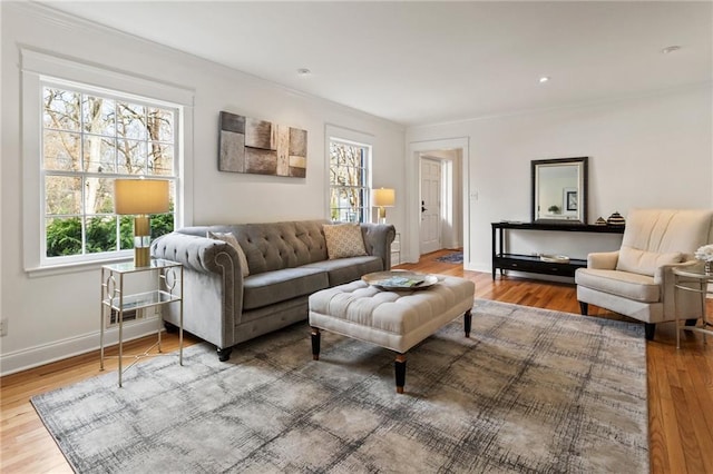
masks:
<path id="1" fill-rule="evenodd" d="M 297 324 L 32 398 L 80 473 L 647 473 L 642 325 L 476 300 L 408 355 Z"/>

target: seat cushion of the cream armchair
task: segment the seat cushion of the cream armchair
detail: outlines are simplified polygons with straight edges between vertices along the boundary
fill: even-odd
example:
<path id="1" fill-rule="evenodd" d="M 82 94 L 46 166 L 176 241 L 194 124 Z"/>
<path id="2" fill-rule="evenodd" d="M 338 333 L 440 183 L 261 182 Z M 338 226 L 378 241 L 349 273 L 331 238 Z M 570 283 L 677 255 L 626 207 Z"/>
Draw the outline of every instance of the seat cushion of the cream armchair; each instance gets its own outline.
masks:
<path id="1" fill-rule="evenodd" d="M 642 303 L 658 303 L 661 286 L 647 275 L 632 274 L 621 270 L 599 270 L 579 268 L 575 273 L 575 282 L 579 286 L 622 296 Z"/>

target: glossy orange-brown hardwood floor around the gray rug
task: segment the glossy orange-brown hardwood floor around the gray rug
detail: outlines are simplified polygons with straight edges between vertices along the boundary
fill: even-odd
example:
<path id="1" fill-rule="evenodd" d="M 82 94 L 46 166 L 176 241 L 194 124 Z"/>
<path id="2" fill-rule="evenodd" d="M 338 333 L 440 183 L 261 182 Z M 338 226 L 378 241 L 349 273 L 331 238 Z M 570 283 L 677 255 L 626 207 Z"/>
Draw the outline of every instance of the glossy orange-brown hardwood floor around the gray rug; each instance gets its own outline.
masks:
<path id="1" fill-rule="evenodd" d="M 471 279 L 477 298 L 579 312 L 574 285 L 511 277 L 494 282 L 489 273 L 465 271 L 462 265 L 436 261 L 448 253 L 433 253 L 417 265 L 398 268 Z M 590 317 L 626 319 L 596 307 L 590 307 Z M 701 335 L 685 333 L 677 350 L 673 324 L 658 326 L 655 340 L 646 343 L 651 472 L 713 473 L 713 338 L 704 345 Z M 186 337 L 186 345 L 195 342 Z M 143 352 L 146 343 L 139 339 L 125 349 Z M 166 350 L 177 349 L 177 337 L 167 335 L 164 345 Z M 109 361 L 107 371 L 115 369 L 116 363 Z M 99 355 L 94 352 L 0 378 L 0 472 L 70 473 L 29 398 L 99 373 Z"/>

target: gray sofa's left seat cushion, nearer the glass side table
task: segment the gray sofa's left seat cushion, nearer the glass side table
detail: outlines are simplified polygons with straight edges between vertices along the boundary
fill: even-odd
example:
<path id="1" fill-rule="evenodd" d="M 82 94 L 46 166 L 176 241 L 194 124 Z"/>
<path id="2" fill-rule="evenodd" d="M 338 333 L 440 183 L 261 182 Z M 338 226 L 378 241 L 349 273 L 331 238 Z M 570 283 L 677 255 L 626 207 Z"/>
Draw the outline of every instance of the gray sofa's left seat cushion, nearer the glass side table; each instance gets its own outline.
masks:
<path id="1" fill-rule="evenodd" d="M 243 309 L 255 309 L 297 296 L 311 295 L 329 286 L 321 268 L 285 268 L 251 275 L 243 280 Z"/>

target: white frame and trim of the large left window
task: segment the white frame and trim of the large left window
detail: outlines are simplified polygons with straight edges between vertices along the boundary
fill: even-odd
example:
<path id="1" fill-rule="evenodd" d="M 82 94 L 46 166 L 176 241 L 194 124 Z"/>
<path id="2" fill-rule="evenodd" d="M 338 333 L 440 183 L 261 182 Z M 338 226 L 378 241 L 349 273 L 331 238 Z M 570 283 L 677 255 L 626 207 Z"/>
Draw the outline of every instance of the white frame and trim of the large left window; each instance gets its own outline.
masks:
<path id="1" fill-rule="evenodd" d="M 31 49 L 21 49 L 22 73 L 22 241 L 23 267 L 35 273 L 64 273 L 87 265 L 99 266 L 108 261 L 131 258 L 131 250 L 115 250 L 75 256 L 48 257 L 46 253 L 45 167 L 42 164 L 43 90 L 45 87 L 68 88 L 81 92 L 148 102 L 175 112 L 174 136 L 174 226 L 191 223 L 193 182 L 184 170 L 189 169 L 193 149 L 194 91 L 136 76 L 70 61 Z M 115 175 L 119 177 L 118 175 Z M 156 176 L 159 179 L 168 177 Z"/>

